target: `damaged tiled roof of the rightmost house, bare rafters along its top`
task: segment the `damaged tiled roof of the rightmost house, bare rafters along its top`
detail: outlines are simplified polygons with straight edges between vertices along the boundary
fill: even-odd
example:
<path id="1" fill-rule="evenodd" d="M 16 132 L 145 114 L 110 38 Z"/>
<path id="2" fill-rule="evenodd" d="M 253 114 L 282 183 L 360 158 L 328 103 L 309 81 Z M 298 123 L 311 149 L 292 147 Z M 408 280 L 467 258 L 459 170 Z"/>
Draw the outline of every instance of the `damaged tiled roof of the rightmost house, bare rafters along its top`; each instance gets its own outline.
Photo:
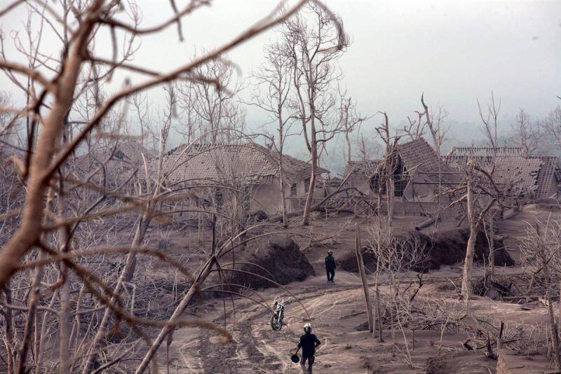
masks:
<path id="1" fill-rule="evenodd" d="M 524 201 L 559 195 L 561 169 L 555 156 L 525 156 L 520 147 L 453 147 L 444 157 L 452 167 L 464 167 L 468 159 L 492 174 L 507 193 Z"/>

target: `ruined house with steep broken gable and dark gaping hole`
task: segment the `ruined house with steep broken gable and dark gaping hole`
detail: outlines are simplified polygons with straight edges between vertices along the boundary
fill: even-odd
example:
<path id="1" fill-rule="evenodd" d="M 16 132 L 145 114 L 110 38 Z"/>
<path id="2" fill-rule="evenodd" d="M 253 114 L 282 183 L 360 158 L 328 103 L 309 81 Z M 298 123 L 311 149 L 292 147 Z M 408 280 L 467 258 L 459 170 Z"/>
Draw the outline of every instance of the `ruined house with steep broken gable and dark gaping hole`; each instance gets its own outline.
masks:
<path id="1" fill-rule="evenodd" d="M 346 165 L 346 186 L 361 193 L 379 193 L 381 160 L 351 161 Z M 393 172 L 393 195 L 397 201 L 434 202 L 438 191 L 459 182 L 459 173 L 447 165 L 424 140 L 415 139 L 399 144 Z M 385 194 L 385 186 L 381 186 Z M 442 196 L 445 198 L 445 196 Z"/>

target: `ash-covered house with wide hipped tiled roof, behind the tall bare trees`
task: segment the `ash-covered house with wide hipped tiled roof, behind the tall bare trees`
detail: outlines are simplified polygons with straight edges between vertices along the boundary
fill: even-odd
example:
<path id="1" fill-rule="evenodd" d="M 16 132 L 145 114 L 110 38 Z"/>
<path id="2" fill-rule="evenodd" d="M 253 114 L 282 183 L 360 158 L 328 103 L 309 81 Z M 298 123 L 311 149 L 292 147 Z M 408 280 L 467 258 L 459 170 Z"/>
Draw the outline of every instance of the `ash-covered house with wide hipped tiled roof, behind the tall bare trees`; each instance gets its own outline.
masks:
<path id="1" fill-rule="evenodd" d="M 278 159 L 278 152 L 258 144 L 181 145 L 165 155 L 163 178 L 167 185 L 187 183 L 204 191 L 217 206 L 236 195 L 245 212 L 273 214 L 281 206 Z M 319 168 L 319 179 L 325 173 Z M 288 200 L 306 196 L 311 176 L 308 162 L 283 155 L 283 176 Z M 323 193 L 316 191 L 316 196 Z"/>

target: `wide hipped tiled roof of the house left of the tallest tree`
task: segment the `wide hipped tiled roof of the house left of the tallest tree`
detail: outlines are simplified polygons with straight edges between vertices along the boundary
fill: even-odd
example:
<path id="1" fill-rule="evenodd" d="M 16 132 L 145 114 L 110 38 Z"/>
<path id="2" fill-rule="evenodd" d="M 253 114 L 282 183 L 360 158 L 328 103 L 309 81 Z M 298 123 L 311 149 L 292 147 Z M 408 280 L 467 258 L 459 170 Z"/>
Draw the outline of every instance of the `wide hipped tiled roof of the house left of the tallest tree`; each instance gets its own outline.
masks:
<path id="1" fill-rule="evenodd" d="M 163 171 L 170 181 L 211 179 L 232 182 L 243 179 L 255 184 L 271 183 L 278 176 L 278 158 L 257 144 L 195 144 L 179 146 L 165 155 Z M 156 162 L 156 160 L 154 160 Z M 311 165 L 289 155 L 283 155 L 285 178 L 296 183 L 309 177 Z M 327 170 L 318 168 L 318 174 Z"/>

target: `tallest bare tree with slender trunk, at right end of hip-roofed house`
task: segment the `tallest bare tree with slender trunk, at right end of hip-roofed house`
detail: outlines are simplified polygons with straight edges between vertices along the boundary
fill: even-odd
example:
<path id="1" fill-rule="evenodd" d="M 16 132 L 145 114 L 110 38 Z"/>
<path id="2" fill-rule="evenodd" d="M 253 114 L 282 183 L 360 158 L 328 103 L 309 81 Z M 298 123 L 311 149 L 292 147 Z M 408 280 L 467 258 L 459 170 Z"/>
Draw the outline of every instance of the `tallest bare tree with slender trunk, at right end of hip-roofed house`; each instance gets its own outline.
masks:
<path id="1" fill-rule="evenodd" d="M 296 92 L 293 106 L 311 155 L 310 184 L 302 217 L 304 225 L 309 224 L 321 146 L 336 133 L 327 122 L 335 104 L 331 86 L 337 74 L 333 63 L 348 44 L 341 20 L 330 11 L 317 4 L 309 5 L 306 11 L 305 16 L 299 15 L 283 25 Z"/>

